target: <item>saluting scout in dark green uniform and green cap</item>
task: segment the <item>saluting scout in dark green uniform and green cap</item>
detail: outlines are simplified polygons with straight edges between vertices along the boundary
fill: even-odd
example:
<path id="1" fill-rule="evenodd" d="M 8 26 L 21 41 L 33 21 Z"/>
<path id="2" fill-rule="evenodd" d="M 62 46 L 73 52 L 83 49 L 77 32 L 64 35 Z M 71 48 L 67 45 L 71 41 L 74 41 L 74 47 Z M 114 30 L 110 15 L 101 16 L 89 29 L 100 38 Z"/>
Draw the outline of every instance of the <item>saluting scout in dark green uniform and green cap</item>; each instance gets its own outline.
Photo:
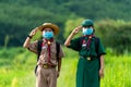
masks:
<path id="1" fill-rule="evenodd" d="M 82 29 L 83 36 L 73 38 Z M 82 22 L 82 26 L 73 29 L 64 45 L 79 51 L 80 59 L 76 71 L 76 87 L 99 87 L 99 79 L 104 77 L 105 50 L 100 39 L 94 36 L 92 20 Z"/>

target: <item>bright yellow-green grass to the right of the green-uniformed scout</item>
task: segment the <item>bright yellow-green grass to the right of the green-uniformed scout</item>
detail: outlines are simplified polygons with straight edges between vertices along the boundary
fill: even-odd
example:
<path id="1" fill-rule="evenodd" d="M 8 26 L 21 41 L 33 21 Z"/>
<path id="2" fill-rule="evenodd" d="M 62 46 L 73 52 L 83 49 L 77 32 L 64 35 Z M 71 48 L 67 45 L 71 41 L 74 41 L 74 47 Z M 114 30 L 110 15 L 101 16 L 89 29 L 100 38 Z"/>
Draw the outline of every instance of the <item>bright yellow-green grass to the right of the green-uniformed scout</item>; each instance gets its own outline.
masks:
<path id="1" fill-rule="evenodd" d="M 105 58 L 105 78 L 102 79 L 102 87 L 130 87 L 130 57 L 123 54 Z"/>

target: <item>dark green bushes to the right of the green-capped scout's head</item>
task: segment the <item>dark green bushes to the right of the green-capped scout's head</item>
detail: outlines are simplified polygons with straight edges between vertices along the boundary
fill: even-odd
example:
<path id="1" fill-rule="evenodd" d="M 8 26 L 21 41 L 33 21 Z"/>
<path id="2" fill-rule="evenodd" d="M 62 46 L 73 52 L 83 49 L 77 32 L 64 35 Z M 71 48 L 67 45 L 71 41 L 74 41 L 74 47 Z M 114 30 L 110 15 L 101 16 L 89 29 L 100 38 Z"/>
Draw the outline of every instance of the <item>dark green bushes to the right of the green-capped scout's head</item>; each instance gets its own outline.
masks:
<path id="1" fill-rule="evenodd" d="M 117 53 L 131 51 L 131 23 L 123 21 L 105 20 L 97 22 L 96 34 L 106 47 L 114 48 Z"/>

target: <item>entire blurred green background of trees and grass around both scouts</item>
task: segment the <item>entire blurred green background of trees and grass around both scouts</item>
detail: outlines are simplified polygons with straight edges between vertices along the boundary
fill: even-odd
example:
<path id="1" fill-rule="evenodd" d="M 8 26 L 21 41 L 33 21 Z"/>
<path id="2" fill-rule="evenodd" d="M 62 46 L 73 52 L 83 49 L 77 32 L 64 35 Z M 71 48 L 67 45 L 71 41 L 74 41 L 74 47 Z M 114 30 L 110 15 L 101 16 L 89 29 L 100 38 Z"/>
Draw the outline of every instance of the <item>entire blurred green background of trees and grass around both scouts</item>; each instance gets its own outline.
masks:
<path id="1" fill-rule="evenodd" d="M 56 39 L 63 45 L 86 18 L 94 21 L 95 35 L 107 51 L 102 87 L 131 87 L 130 5 L 131 0 L 0 0 L 0 87 L 35 87 L 37 55 L 22 47 L 32 29 L 55 23 L 60 27 Z M 33 40 L 39 38 L 37 33 Z M 75 87 L 79 54 L 64 46 L 63 50 L 58 87 Z"/>

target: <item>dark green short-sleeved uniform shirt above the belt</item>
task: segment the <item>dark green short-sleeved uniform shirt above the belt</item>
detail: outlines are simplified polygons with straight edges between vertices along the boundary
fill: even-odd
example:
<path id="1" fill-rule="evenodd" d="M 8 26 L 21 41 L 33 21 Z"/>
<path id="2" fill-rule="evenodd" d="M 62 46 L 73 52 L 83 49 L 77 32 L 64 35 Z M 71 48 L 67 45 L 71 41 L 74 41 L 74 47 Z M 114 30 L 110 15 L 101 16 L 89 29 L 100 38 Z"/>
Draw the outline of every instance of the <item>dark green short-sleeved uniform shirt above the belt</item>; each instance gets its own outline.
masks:
<path id="1" fill-rule="evenodd" d="M 72 48 L 75 51 L 79 51 L 79 54 L 82 57 L 98 57 L 105 54 L 104 46 L 100 42 L 100 39 L 93 37 L 91 39 L 90 49 L 87 49 L 88 37 L 79 37 L 71 40 L 69 48 Z M 83 44 L 85 41 L 85 44 Z"/>

